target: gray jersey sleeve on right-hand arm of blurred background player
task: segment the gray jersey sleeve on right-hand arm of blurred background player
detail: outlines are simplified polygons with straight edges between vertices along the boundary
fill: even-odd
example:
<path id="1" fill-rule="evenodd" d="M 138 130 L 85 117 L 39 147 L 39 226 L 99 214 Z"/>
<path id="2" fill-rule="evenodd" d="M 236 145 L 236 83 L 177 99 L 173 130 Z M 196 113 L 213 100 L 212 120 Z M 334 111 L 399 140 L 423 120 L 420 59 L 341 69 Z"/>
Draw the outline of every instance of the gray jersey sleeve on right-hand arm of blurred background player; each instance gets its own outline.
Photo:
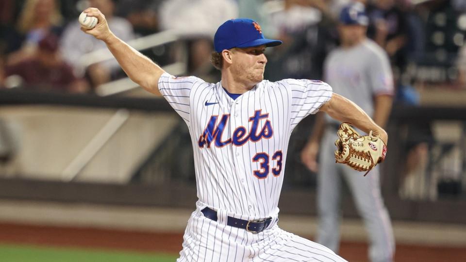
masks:
<path id="1" fill-rule="evenodd" d="M 370 59 L 368 68 L 370 85 L 374 95 L 393 95 L 393 73 L 388 56 L 376 52 Z"/>

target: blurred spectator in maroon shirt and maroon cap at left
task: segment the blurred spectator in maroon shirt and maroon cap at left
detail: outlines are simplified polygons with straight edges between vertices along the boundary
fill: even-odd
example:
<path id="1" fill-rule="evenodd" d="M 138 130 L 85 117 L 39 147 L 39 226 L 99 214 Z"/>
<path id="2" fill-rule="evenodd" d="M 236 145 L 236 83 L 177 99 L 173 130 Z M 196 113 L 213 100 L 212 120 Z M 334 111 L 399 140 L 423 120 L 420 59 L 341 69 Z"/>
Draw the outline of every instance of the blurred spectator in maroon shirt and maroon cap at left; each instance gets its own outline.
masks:
<path id="1" fill-rule="evenodd" d="M 26 88 L 43 91 L 85 92 L 87 84 L 75 77 L 58 52 L 58 38 L 49 34 L 38 43 L 34 54 L 15 65 L 6 66 L 5 81 L 8 77 L 19 76 Z"/>

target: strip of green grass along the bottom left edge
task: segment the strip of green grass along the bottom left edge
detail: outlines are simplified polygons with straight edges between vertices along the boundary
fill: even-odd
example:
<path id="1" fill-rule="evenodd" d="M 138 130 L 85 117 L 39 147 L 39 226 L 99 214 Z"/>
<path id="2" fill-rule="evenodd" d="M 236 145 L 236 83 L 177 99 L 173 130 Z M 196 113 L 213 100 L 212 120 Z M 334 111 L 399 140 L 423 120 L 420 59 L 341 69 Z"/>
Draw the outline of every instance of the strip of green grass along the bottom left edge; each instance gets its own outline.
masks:
<path id="1" fill-rule="evenodd" d="M 157 253 L 0 245 L 1 262 L 173 262 L 176 258 Z"/>

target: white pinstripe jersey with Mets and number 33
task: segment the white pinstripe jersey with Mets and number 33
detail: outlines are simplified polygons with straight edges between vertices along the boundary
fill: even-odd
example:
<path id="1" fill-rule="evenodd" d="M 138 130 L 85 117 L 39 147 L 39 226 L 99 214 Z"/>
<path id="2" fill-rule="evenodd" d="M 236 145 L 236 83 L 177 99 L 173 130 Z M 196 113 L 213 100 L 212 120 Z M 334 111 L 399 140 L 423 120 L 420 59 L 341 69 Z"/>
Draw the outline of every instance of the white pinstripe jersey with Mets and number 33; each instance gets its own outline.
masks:
<path id="1" fill-rule="evenodd" d="M 296 125 L 332 97 L 320 81 L 262 81 L 233 100 L 220 82 L 164 73 L 161 94 L 189 127 L 199 201 L 242 219 L 278 214 Z"/>

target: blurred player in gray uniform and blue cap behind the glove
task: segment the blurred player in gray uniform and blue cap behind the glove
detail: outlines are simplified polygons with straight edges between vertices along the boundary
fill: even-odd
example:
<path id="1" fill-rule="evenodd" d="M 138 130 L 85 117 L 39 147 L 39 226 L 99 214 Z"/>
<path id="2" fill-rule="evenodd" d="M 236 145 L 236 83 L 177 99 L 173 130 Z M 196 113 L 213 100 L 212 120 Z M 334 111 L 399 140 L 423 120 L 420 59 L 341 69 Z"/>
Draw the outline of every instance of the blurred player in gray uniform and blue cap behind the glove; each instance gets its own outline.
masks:
<path id="1" fill-rule="evenodd" d="M 392 106 L 393 75 L 386 53 L 375 42 L 366 38 L 368 17 L 361 3 L 344 7 L 340 13 L 338 31 L 340 47 L 333 50 L 324 65 L 324 81 L 333 92 L 350 98 L 374 121 L 384 127 Z M 393 260 L 395 243 L 389 215 L 383 204 L 379 166 L 366 177 L 347 165 L 335 164 L 335 148 L 339 123 L 318 114 L 312 136 L 301 152 L 302 162 L 311 170 L 319 169 L 317 179 L 317 208 L 319 228 L 316 242 L 334 252 L 339 248 L 340 199 L 342 179 L 352 193 L 356 207 L 364 219 L 369 234 L 369 258 L 372 262 Z"/>

